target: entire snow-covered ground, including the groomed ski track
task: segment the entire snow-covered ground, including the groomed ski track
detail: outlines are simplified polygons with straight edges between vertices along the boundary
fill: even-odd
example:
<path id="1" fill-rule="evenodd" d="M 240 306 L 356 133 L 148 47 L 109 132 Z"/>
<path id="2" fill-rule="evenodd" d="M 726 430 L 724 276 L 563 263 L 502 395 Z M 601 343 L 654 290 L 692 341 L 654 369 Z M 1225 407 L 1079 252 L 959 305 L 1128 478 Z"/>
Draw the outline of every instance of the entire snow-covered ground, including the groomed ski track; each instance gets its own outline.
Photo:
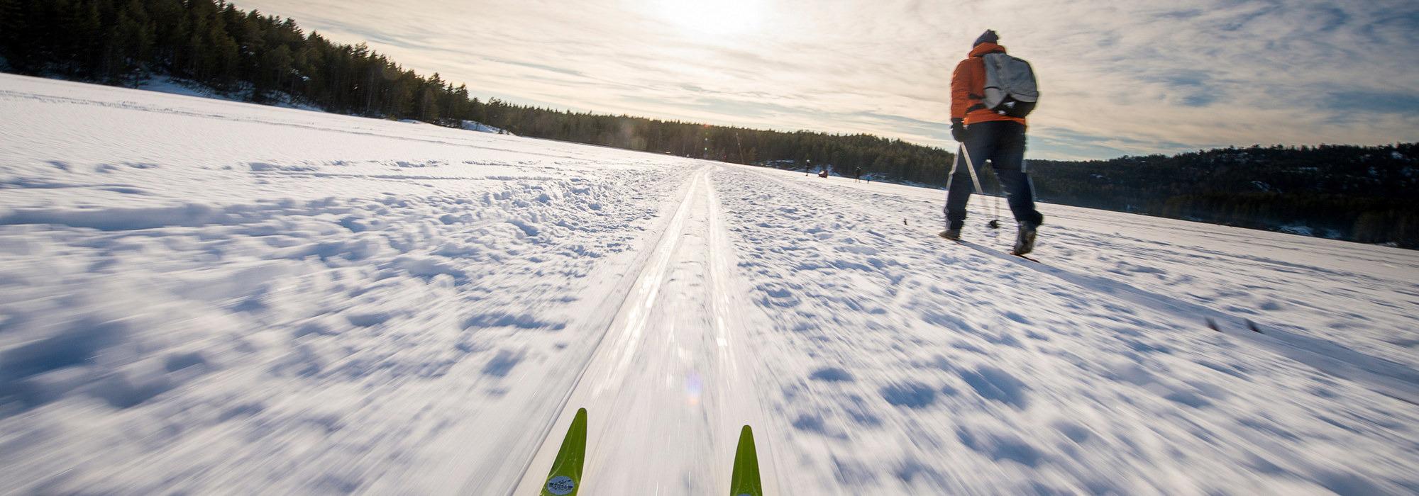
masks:
<path id="1" fill-rule="evenodd" d="M 942 197 L 0 75 L 0 492 L 1419 492 L 1419 252 Z"/>

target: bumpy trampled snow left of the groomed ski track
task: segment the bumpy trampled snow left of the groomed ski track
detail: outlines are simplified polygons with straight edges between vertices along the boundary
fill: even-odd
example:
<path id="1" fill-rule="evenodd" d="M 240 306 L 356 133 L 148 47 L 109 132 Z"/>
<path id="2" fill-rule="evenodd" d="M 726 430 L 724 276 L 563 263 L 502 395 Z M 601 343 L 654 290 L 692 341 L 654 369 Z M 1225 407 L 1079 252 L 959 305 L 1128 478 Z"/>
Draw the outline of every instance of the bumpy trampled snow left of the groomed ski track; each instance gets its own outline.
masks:
<path id="1" fill-rule="evenodd" d="M 542 388 L 569 387 L 595 296 L 684 163 L 4 82 L 0 478 L 18 490 L 434 492 L 528 458 L 522 424 L 446 439 L 552 415 Z"/>

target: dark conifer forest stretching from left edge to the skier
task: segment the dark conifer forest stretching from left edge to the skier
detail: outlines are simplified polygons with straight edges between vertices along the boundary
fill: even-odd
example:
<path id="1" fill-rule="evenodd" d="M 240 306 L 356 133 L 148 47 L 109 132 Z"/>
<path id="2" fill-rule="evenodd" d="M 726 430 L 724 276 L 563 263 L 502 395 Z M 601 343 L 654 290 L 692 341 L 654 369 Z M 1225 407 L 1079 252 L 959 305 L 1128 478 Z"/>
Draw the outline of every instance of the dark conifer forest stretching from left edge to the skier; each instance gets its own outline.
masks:
<path id="1" fill-rule="evenodd" d="M 460 126 L 736 163 L 863 167 L 884 179 L 937 181 L 951 154 L 901 140 L 769 132 L 630 116 L 570 113 L 471 98 L 438 74 L 420 77 L 365 44 L 305 34 L 291 18 L 213 0 L 0 0 L 0 55 L 10 69 L 112 85 L 153 75 L 243 99 Z"/>

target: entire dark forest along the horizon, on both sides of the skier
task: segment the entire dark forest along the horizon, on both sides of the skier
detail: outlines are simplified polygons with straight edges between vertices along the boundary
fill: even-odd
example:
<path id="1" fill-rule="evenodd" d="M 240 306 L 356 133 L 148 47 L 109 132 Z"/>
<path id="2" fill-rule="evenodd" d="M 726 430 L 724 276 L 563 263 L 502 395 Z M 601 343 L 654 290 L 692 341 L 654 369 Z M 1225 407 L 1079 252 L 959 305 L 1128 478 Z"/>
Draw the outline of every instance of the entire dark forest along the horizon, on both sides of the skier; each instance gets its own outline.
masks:
<path id="1" fill-rule="evenodd" d="M 473 98 L 365 44 L 214 0 L 0 0 L 6 69 L 112 85 L 176 77 L 228 96 L 329 112 L 477 120 L 512 133 L 942 186 L 952 153 L 868 135 L 773 132 L 562 112 Z M 1250 147 L 1111 160 L 1032 160 L 1044 201 L 1419 247 L 1416 145 Z M 989 170 L 989 167 L 985 167 Z"/>

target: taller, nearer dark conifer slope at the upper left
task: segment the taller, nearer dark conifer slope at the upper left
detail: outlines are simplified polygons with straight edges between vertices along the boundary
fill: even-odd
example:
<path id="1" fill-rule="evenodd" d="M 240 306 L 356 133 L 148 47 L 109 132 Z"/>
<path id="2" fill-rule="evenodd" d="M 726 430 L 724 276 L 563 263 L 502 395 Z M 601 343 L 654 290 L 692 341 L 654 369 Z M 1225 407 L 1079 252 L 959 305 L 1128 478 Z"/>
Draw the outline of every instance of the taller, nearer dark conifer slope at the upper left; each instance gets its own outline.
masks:
<path id="1" fill-rule="evenodd" d="M 447 122 L 481 106 L 363 44 L 307 35 L 291 18 L 213 0 L 0 0 L 0 54 L 20 74 L 114 85 L 189 79 L 253 102 Z"/>

